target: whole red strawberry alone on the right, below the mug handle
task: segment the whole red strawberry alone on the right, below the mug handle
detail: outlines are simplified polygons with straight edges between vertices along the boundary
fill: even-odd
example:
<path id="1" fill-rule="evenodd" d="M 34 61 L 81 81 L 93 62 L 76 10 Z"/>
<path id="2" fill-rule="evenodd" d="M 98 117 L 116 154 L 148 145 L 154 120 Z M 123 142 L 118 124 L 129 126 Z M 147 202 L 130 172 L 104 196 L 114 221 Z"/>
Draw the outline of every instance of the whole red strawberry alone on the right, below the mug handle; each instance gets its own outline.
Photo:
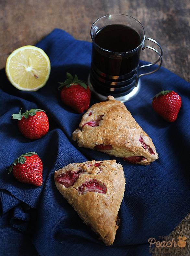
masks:
<path id="1" fill-rule="evenodd" d="M 173 91 L 161 91 L 152 100 L 152 108 L 167 122 L 176 120 L 181 104 L 181 97 Z"/>

